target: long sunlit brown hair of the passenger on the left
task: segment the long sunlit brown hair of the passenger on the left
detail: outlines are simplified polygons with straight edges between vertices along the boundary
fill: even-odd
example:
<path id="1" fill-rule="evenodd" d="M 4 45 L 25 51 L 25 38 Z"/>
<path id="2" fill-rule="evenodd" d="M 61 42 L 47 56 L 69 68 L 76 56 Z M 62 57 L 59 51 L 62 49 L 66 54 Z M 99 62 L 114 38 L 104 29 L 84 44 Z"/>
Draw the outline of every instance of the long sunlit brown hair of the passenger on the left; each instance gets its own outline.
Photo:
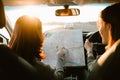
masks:
<path id="1" fill-rule="evenodd" d="M 26 59 L 39 58 L 43 45 L 42 23 L 33 16 L 17 19 L 9 46 Z"/>

